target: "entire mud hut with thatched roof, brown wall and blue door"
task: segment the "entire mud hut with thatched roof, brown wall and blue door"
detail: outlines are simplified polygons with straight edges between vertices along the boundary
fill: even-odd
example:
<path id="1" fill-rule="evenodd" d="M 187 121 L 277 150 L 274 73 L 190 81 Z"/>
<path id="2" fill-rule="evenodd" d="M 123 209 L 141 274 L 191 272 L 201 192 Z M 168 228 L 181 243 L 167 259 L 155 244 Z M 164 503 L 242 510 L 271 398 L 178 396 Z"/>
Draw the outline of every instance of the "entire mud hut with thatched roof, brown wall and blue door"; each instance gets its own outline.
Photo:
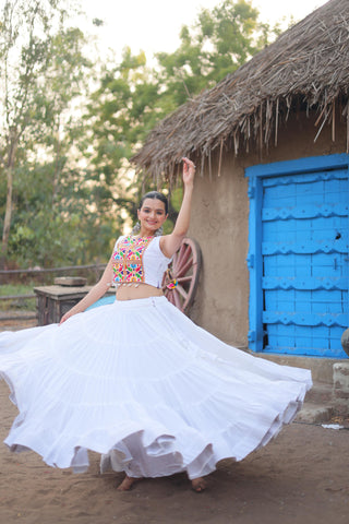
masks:
<path id="1" fill-rule="evenodd" d="M 238 347 L 347 358 L 349 1 L 330 0 L 151 132 L 133 162 L 197 166 L 192 319 Z"/>

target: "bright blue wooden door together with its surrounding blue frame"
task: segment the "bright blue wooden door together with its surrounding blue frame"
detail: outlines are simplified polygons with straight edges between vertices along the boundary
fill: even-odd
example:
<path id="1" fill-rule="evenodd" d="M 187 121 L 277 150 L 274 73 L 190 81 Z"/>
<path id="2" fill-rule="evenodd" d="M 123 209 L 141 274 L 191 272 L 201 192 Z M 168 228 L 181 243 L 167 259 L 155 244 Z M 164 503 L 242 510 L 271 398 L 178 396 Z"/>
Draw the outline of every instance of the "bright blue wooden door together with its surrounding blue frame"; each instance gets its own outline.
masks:
<path id="1" fill-rule="evenodd" d="M 349 155 L 254 166 L 250 177 L 250 346 L 347 358 Z"/>

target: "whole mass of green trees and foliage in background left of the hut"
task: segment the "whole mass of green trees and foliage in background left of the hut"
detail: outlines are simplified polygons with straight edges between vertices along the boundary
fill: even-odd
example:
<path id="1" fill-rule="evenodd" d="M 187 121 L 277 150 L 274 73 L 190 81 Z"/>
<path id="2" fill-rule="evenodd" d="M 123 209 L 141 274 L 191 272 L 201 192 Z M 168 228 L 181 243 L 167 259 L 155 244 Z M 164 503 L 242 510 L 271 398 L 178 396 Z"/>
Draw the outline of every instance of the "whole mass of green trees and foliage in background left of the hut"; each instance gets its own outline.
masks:
<path id="1" fill-rule="evenodd" d="M 106 260 L 124 221 L 135 222 L 141 193 L 155 187 L 129 163 L 147 133 L 278 32 L 258 22 L 251 1 L 222 0 L 183 25 L 178 49 L 158 52 L 152 66 L 129 47 L 119 61 L 93 63 L 84 34 L 65 23 L 70 15 L 65 0 L 7 0 L 0 24 L 0 82 L 8 93 L 8 118 L 0 124 L 0 226 L 14 144 L 8 258 L 21 266 Z M 172 189 L 166 233 L 181 196 L 181 188 Z"/>

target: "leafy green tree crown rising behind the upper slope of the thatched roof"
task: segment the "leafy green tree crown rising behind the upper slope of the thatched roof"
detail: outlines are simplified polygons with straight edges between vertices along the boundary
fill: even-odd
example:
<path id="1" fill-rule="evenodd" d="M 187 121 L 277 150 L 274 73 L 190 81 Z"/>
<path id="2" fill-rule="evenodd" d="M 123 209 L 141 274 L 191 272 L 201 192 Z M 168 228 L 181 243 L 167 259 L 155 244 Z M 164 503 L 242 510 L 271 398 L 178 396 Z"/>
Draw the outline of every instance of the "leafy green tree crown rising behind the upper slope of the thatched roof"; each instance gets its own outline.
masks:
<path id="1" fill-rule="evenodd" d="M 202 9 L 193 26 L 182 26 L 179 48 L 156 55 L 165 111 L 214 87 L 275 38 L 278 25 L 261 23 L 258 14 L 252 1 L 224 0 Z"/>

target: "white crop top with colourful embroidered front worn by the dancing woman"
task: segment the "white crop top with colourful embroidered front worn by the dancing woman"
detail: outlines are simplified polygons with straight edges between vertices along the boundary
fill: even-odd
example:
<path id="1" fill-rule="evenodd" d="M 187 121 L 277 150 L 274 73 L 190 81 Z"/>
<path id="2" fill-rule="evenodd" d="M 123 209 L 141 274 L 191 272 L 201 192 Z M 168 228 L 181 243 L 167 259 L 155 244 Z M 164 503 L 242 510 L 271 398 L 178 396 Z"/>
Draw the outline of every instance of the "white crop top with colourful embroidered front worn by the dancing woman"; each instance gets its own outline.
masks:
<path id="1" fill-rule="evenodd" d="M 113 284 L 140 284 L 161 287 L 164 273 L 171 259 L 160 249 L 160 237 L 119 237 L 112 259 Z"/>

